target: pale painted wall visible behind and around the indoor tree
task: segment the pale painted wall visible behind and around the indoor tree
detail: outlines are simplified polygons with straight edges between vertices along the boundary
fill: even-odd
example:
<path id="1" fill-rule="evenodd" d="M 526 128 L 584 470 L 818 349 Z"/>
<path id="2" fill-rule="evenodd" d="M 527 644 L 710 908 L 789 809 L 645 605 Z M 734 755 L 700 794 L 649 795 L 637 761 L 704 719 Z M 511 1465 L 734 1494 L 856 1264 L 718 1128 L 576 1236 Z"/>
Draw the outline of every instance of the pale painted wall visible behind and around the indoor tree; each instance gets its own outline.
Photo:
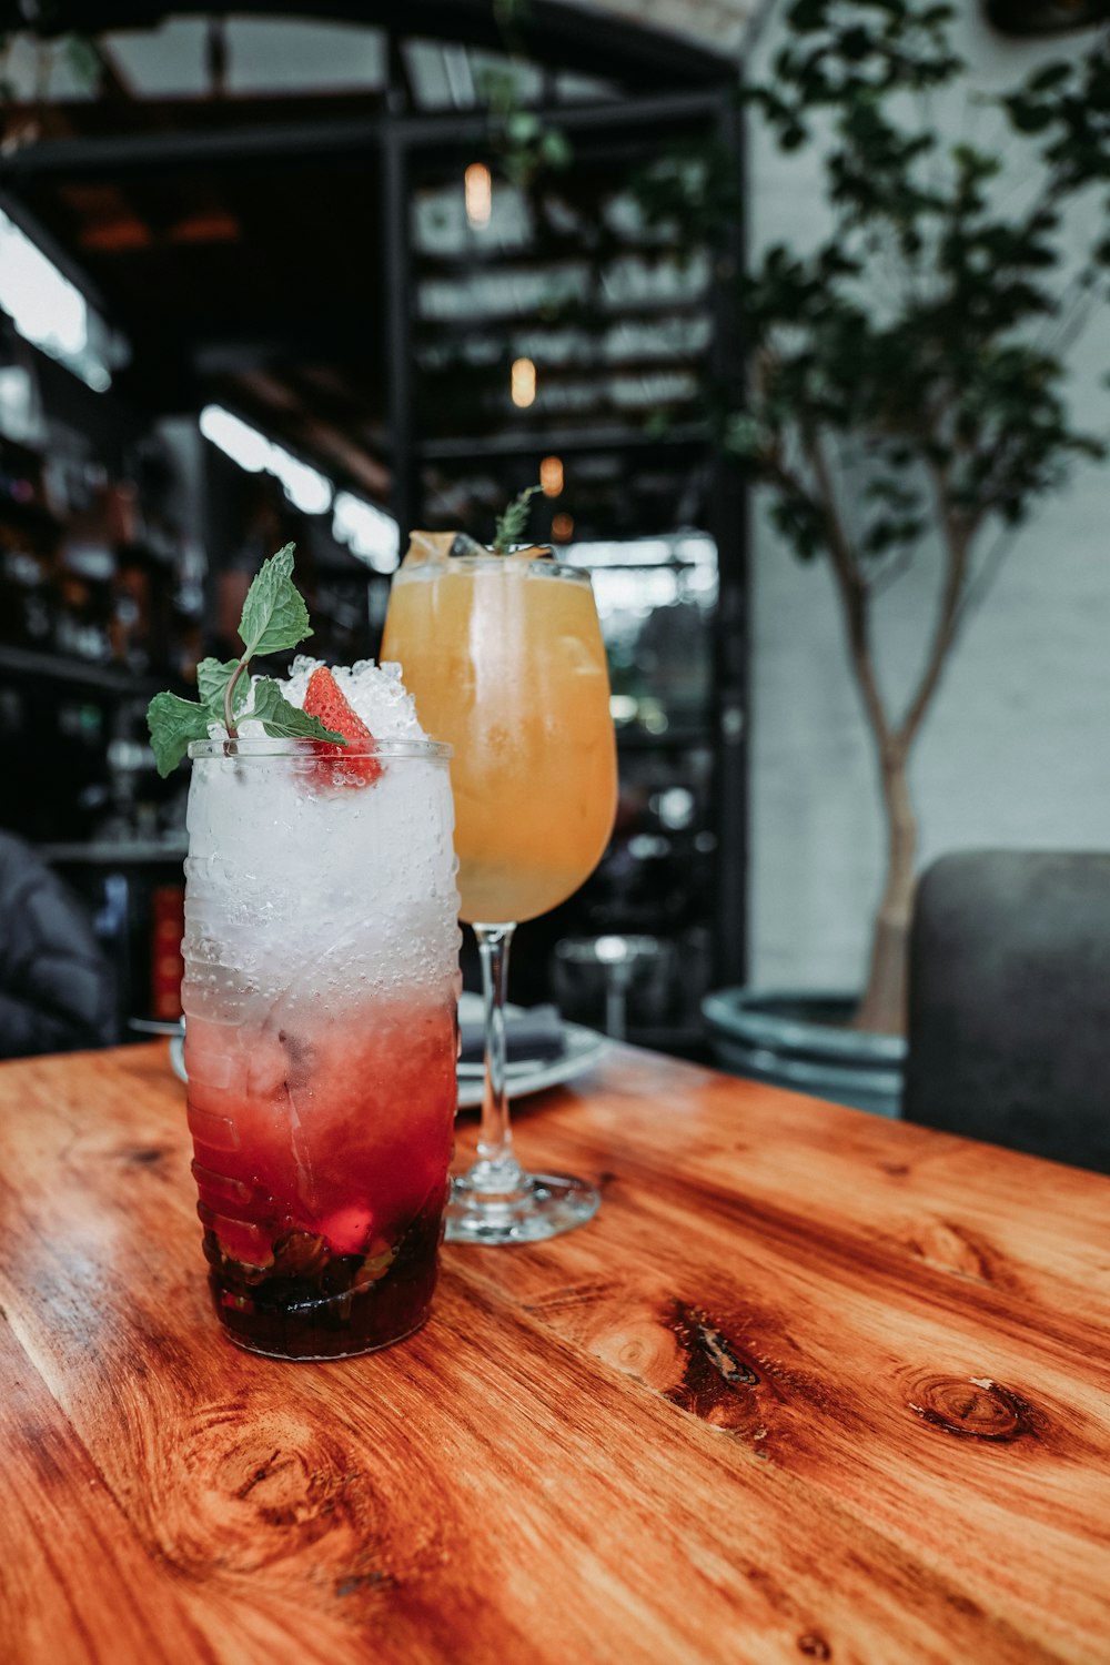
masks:
<path id="1" fill-rule="evenodd" d="M 954 33 L 985 90 L 1087 38 L 1007 42 L 970 3 Z M 779 40 L 776 15 L 757 75 Z M 820 233 L 812 157 L 782 158 L 756 137 L 751 186 L 756 248 Z M 1103 311 L 1072 353 L 1070 388 L 1075 420 L 1103 433 L 1108 370 Z M 761 498 L 752 556 L 752 981 L 850 989 L 865 969 L 884 834 L 832 581 L 824 561 L 790 554 Z M 884 598 L 890 691 L 919 661 L 934 576 L 925 564 Z M 922 866 L 965 846 L 1110 847 L 1110 465 L 1083 465 L 1022 528 L 950 661 L 912 781 Z"/>

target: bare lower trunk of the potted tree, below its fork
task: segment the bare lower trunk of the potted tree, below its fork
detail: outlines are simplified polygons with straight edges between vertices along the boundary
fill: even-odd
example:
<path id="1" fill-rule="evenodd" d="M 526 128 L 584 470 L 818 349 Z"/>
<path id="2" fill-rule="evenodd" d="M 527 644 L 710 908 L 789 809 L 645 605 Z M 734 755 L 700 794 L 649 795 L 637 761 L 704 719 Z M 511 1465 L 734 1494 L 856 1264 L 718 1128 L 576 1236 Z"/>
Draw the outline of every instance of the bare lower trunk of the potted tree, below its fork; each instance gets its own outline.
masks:
<path id="1" fill-rule="evenodd" d="M 867 987 L 854 1029 L 905 1031 L 905 969 L 914 912 L 917 818 L 910 801 L 907 748 L 897 739 L 880 749 L 882 808 L 887 823 L 887 876 L 875 916 Z"/>

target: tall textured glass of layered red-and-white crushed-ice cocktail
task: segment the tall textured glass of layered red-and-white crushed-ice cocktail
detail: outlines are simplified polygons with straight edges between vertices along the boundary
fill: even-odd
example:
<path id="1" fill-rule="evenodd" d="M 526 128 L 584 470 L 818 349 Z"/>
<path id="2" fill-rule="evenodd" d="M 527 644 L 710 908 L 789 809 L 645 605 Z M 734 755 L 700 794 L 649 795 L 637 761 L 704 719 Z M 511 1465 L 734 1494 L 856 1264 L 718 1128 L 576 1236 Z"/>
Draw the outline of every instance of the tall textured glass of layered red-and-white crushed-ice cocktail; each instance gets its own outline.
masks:
<path id="1" fill-rule="evenodd" d="M 339 758 L 251 738 L 245 719 L 233 744 L 190 749 L 185 1067 L 205 1254 L 230 1335 L 290 1359 L 366 1352 L 426 1319 L 456 1107 L 449 753 L 396 678 L 348 686 L 393 739 Z"/>

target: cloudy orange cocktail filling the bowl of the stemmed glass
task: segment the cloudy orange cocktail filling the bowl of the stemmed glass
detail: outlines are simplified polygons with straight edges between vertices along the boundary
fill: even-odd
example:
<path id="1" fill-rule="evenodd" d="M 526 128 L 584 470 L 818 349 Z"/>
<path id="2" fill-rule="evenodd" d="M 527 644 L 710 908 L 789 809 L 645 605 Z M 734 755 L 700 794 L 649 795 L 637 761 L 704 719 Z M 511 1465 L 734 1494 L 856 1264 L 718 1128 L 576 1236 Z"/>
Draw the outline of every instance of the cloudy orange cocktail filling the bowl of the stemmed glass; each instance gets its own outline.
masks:
<path id="1" fill-rule="evenodd" d="M 589 578 L 534 554 L 446 559 L 414 539 L 393 581 L 381 658 L 401 663 L 426 733 L 454 748 L 466 921 L 554 907 L 612 831 L 616 743 Z"/>

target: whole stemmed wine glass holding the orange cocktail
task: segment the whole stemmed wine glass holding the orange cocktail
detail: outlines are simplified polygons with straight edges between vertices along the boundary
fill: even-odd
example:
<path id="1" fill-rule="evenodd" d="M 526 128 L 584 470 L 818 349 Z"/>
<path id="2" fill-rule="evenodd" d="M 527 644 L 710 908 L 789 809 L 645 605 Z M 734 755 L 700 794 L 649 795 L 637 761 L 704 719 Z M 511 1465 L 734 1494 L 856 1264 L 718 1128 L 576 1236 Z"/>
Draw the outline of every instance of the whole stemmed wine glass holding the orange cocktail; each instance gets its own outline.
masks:
<path id="1" fill-rule="evenodd" d="M 601 1200 L 581 1179 L 526 1174 L 516 1161 L 504 1032 L 516 926 L 571 896 L 612 831 L 616 738 L 589 574 L 538 548 L 491 554 L 414 533 L 381 658 L 399 661 L 428 734 L 454 748 L 459 911 L 483 967 L 478 1161 L 454 1179 L 446 1235 L 538 1242 L 581 1225 Z"/>

